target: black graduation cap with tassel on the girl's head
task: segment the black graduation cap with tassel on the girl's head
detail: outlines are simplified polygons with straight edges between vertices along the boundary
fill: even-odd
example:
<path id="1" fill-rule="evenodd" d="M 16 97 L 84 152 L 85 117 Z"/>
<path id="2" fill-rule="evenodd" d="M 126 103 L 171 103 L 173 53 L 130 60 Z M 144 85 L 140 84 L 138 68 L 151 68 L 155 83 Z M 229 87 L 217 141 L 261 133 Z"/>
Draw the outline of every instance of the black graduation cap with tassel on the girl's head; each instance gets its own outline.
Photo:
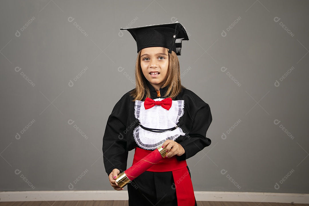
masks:
<path id="1" fill-rule="evenodd" d="M 189 40 L 187 31 L 181 23 L 155 24 L 144 27 L 120 28 L 128 30 L 137 44 L 137 52 L 147 47 L 168 48 L 181 55 L 182 40 Z"/>

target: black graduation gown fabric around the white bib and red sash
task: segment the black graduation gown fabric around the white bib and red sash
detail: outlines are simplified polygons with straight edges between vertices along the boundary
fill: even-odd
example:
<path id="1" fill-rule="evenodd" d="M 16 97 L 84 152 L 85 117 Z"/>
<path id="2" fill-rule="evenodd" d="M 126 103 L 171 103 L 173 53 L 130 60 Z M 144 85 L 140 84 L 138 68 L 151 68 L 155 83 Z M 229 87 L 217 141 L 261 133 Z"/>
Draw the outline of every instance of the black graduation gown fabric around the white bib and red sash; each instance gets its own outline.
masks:
<path id="1" fill-rule="evenodd" d="M 155 88 L 149 82 L 147 84 L 151 91 L 151 99 L 158 98 Z M 166 90 L 166 87 L 160 88 L 161 96 Z M 115 168 L 121 172 L 126 170 L 128 151 L 139 147 L 133 137 L 133 130 L 139 121 L 134 116 L 135 103 L 132 100 L 127 92 L 116 103 L 108 117 L 102 147 L 104 167 L 108 175 Z M 184 114 L 180 117 L 178 125 L 185 135 L 180 135 L 175 140 L 185 150 L 183 155 L 176 155 L 179 161 L 183 161 L 210 145 L 211 140 L 206 137 L 206 132 L 212 122 L 212 115 L 209 105 L 191 90 L 183 89 L 173 100 L 184 100 Z M 156 205 L 158 202 L 159 205 L 177 205 L 173 183 L 172 172 L 145 171 L 127 185 L 129 205 Z"/>

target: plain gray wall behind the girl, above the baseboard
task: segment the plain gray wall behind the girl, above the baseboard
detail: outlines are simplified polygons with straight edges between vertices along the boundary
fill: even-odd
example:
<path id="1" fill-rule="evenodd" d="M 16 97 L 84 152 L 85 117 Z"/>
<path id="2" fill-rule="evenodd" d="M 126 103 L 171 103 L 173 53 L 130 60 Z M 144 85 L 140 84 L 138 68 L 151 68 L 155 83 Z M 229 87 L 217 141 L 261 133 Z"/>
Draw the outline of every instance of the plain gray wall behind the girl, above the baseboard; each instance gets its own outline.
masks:
<path id="1" fill-rule="evenodd" d="M 182 84 L 213 115 L 212 144 L 187 160 L 194 190 L 309 193 L 308 6 L 2 1 L 0 190 L 113 190 L 102 137 L 137 57 L 119 29 L 179 21 Z"/>

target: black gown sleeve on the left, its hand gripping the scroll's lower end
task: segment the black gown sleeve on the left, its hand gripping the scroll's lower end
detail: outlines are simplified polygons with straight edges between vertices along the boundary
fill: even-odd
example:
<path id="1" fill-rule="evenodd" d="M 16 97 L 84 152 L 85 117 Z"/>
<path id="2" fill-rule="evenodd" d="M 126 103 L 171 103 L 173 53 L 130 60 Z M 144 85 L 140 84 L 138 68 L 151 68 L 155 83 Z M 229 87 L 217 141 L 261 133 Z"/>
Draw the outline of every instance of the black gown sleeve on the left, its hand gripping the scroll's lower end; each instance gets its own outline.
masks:
<path id="1" fill-rule="evenodd" d="M 125 94 L 114 106 L 108 117 L 103 136 L 103 160 L 106 173 L 113 169 L 126 170 L 128 150 L 126 125 L 129 116 L 129 95 Z"/>

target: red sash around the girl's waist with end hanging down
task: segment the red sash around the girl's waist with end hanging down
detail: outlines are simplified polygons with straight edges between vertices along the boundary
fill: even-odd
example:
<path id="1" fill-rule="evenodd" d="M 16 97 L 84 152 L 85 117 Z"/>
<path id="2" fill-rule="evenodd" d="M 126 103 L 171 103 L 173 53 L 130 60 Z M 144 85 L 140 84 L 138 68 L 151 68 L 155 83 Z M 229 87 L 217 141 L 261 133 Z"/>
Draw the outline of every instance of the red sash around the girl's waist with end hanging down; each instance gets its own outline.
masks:
<path id="1" fill-rule="evenodd" d="M 144 158 L 146 155 L 151 153 L 151 150 L 135 148 L 133 163 L 137 163 L 139 160 Z M 187 169 L 186 160 L 178 161 L 176 155 L 171 158 L 164 158 L 157 164 L 151 166 L 148 170 L 150 172 L 168 172 L 172 171 L 178 206 L 194 206 L 195 197 L 193 191 L 193 185 L 190 178 L 190 174 Z"/>

